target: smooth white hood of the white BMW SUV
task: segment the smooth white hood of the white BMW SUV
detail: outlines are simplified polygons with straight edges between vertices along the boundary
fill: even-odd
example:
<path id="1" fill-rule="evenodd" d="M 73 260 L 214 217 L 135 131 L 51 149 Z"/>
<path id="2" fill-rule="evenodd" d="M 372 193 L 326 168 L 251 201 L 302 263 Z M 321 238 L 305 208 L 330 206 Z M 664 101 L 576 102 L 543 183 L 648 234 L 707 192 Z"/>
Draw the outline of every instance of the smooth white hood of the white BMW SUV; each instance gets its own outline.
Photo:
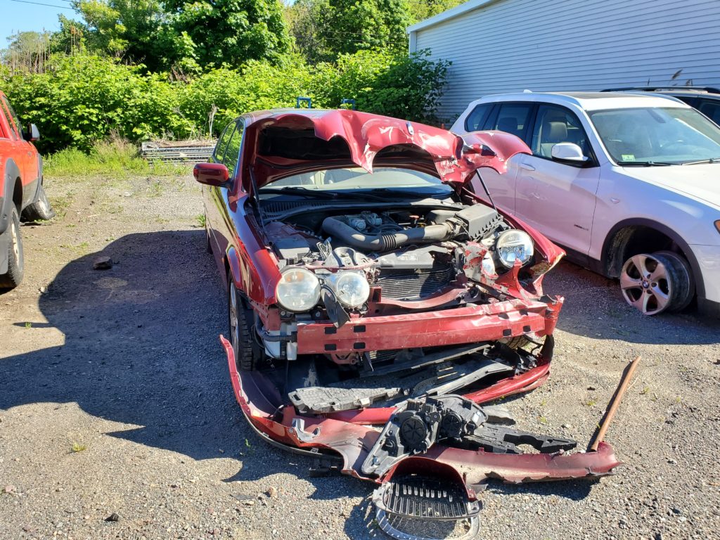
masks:
<path id="1" fill-rule="evenodd" d="M 720 163 L 625 167 L 626 174 L 720 208 Z"/>

